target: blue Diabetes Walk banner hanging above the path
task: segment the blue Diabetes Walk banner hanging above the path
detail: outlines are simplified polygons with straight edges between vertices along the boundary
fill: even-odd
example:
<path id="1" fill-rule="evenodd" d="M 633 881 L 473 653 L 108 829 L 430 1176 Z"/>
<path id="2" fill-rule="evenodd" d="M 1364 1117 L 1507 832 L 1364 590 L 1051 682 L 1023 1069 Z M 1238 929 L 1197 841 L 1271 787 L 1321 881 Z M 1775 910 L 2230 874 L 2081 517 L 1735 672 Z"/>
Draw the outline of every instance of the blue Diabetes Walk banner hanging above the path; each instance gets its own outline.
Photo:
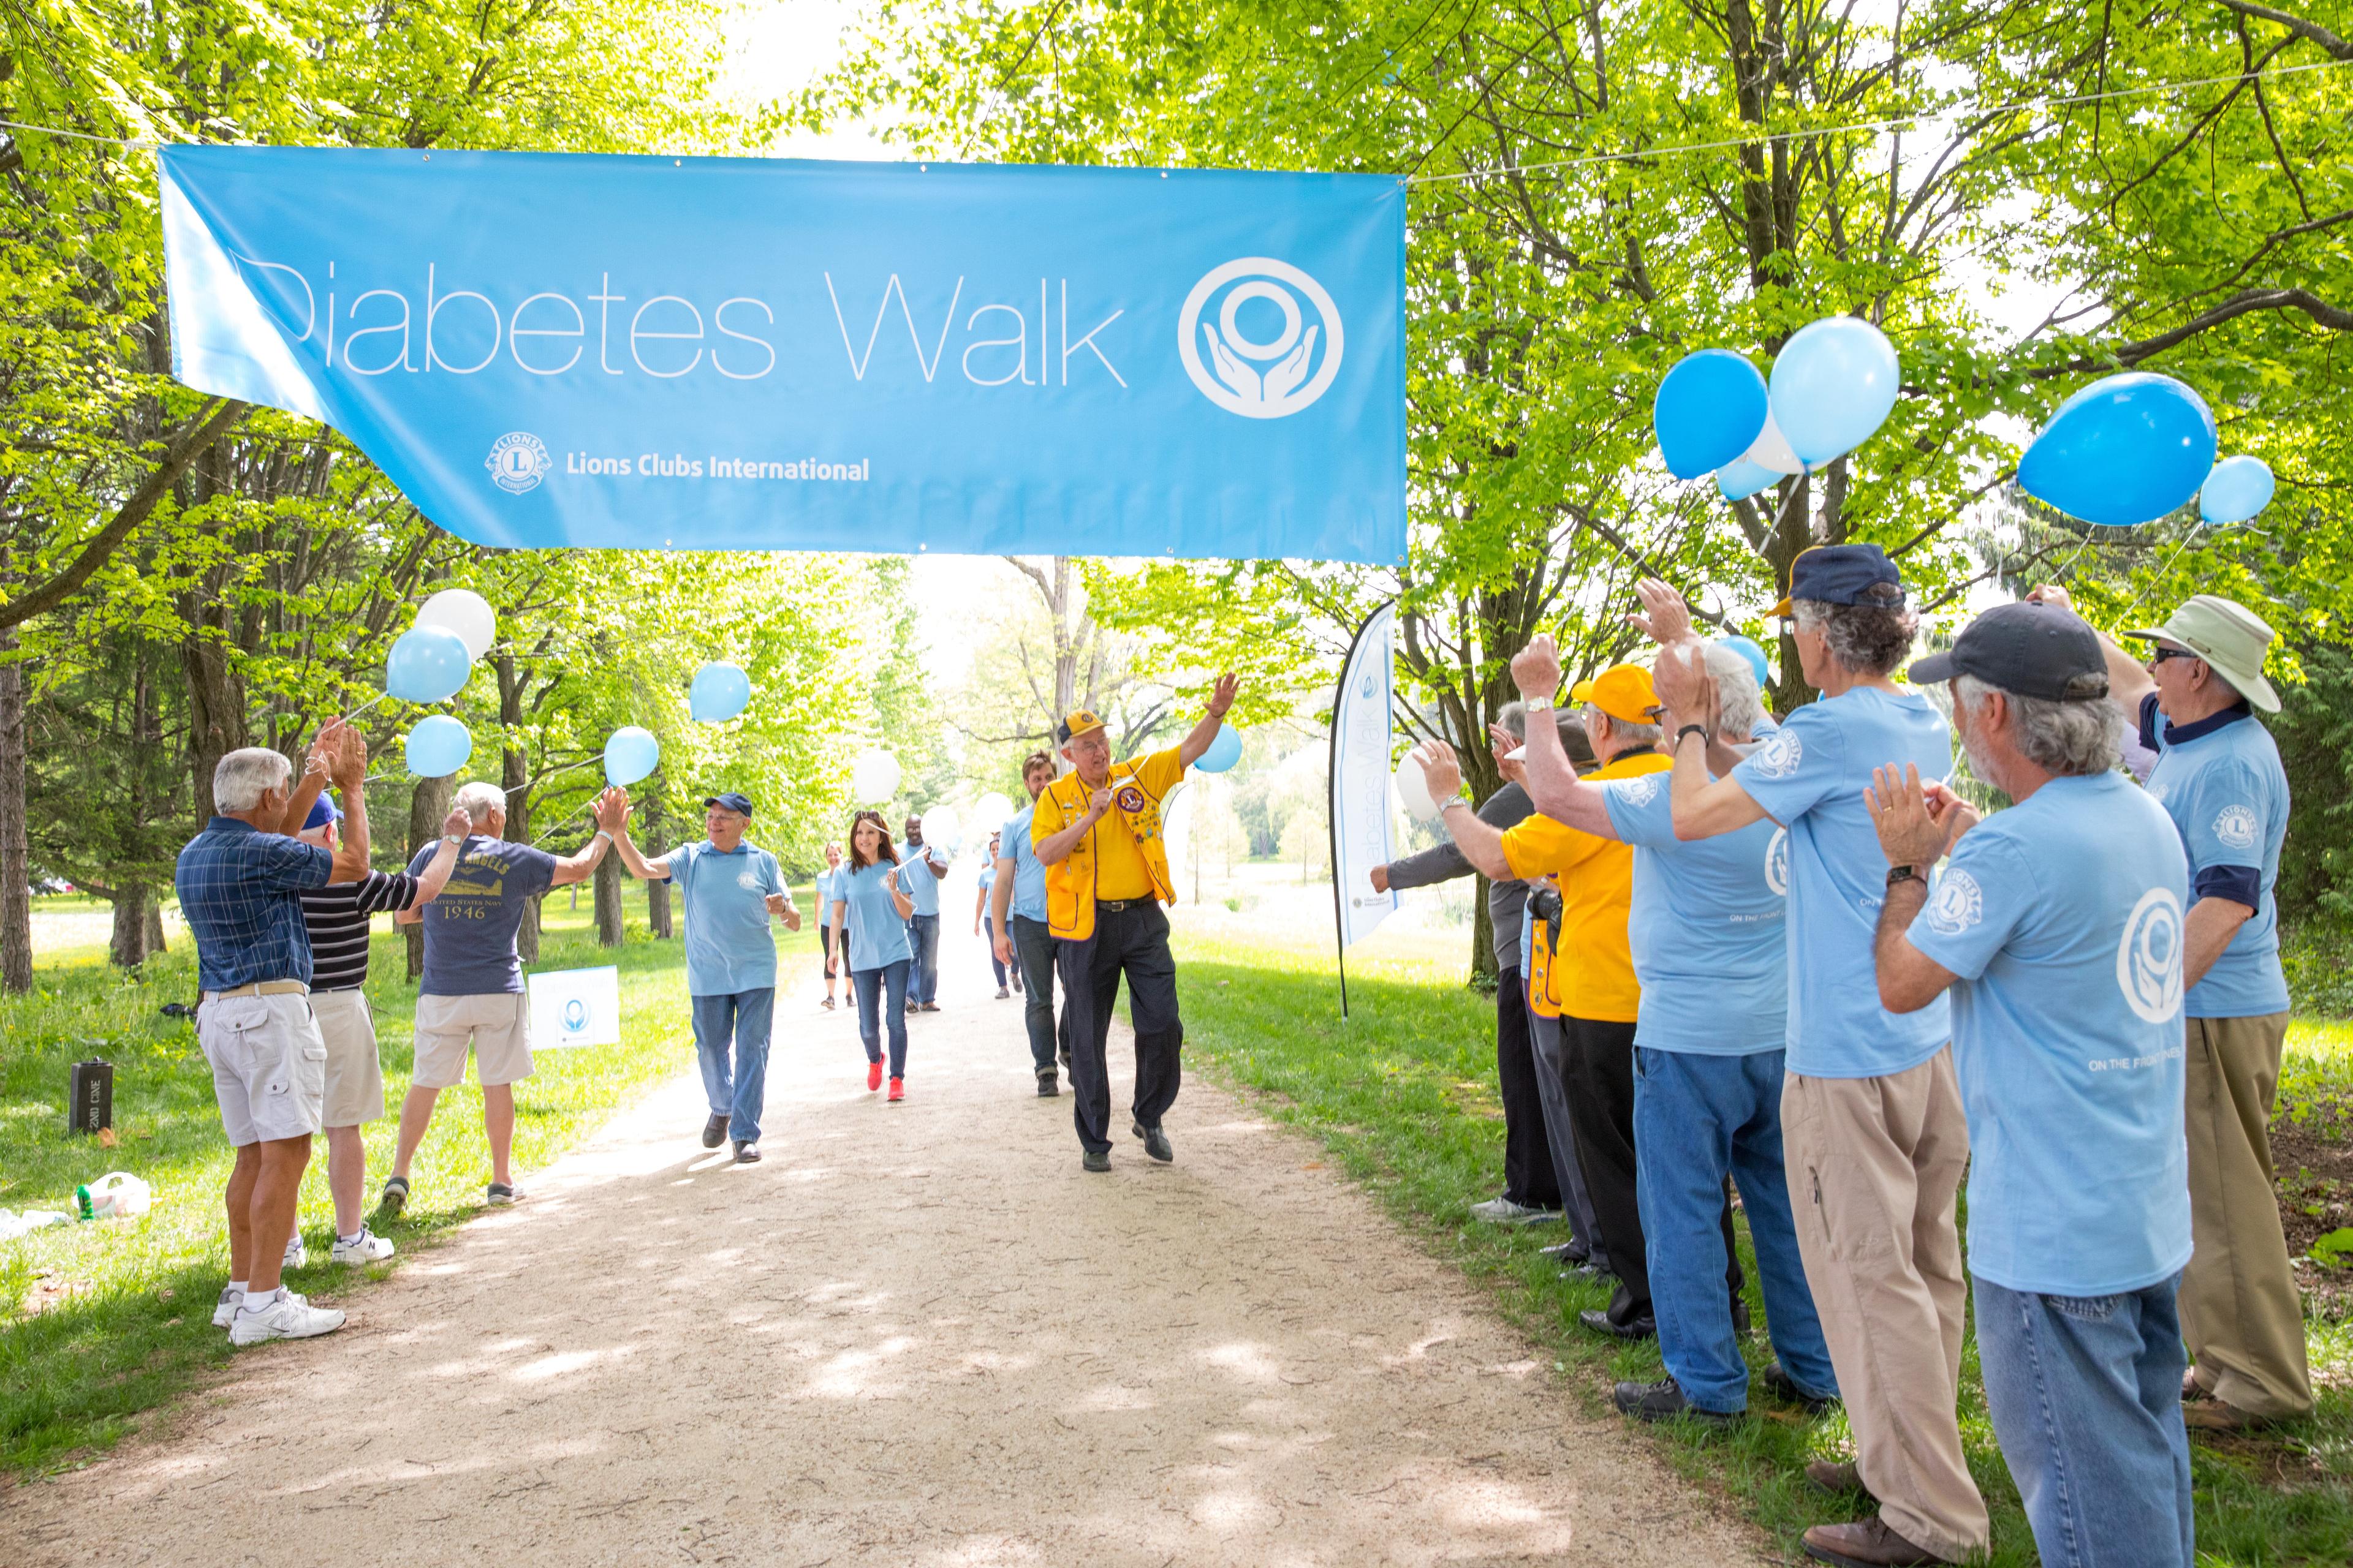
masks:
<path id="1" fill-rule="evenodd" d="M 1405 559 L 1405 183 L 174 146 L 172 364 L 482 545 Z"/>

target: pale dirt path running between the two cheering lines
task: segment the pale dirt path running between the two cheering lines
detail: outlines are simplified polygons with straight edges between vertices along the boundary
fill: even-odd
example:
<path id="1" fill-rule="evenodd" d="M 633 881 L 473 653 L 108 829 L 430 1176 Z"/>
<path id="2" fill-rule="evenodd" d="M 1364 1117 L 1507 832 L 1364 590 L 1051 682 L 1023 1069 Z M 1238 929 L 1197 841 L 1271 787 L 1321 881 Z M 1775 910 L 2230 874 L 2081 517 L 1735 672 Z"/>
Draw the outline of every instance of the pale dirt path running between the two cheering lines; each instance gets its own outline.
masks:
<path id="1" fill-rule="evenodd" d="M 1021 1004 L 953 992 L 904 1105 L 802 992 L 767 1164 L 680 1077 L 344 1333 L 14 1488 L 0 1561 L 1758 1561 L 1311 1145 L 1195 1077 L 1174 1166 L 1087 1175 Z"/>

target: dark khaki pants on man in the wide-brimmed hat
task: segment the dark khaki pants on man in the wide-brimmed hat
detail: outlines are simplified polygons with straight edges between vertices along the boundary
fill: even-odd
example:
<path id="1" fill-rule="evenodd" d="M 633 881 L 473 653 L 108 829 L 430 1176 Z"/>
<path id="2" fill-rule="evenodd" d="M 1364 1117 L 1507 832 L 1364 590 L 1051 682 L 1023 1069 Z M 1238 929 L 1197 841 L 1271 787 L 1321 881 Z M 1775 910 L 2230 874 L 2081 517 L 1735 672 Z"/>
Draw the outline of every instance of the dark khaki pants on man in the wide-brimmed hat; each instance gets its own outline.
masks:
<path id="1" fill-rule="evenodd" d="M 2191 1237 L 2181 1338 L 2198 1387 L 2252 1415 L 2311 1415 L 2304 1298 L 2271 1187 L 2271 1100 L 2287 1013 L 2191 1018 Z"/>

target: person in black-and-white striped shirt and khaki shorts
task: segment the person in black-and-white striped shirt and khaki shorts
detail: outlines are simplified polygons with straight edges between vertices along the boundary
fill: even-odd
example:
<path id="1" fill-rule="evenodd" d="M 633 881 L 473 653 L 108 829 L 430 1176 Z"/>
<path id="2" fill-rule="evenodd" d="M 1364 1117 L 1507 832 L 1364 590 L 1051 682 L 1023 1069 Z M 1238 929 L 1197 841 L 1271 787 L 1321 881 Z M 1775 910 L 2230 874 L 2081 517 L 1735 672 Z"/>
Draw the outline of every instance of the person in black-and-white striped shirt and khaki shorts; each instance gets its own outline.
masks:
<path id="1" fill-rule="evenodd" d="M 301 896 L 311 933 L 311 1016 L 327 1046 L 322 1119 L 327 1124 L 327 1192 L 334 1197 L 334 1246 L 329 1262 L 384 1262 L 393 1244 L 367 1227 L 369 1121 L 384 1119 L 384 1058 L 376 1053 L 376 1016 L 367 1006 L 367 938 L 372 914 L 400 914 L 440 898 L 471 818 L 452 809 L 442 820 L 424 872 L 369 870 L 367 748 L 353 733 L 339 759 L 336 790 L 348 806 L 336 811 L 320 795 L 301 823 L 306 844 L 334 853 L 334 882 Z M 301 1229 L 296 1227 L 296 1241 Z M 301 1267 L 296 1262 L 296 1267 Z"/>

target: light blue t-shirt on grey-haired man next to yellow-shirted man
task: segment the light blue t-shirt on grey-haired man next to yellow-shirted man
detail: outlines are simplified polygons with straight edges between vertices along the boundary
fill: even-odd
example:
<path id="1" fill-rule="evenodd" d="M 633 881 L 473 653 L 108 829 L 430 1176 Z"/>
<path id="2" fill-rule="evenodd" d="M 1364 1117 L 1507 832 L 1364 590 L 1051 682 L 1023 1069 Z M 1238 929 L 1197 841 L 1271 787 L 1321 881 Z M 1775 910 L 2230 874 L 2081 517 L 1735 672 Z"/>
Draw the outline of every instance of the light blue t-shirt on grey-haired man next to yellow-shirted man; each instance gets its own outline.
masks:
<path id="1" fill-rule="evenodd" d="M 1666 773 L 1600 785 L 1633 844 L 1626 943 L 1642 983 L 1633 1044 L 1692 1056 L 1781 1051 L 1788 1037 L 1788 832 L 1748 823 L 1682 842 Z"/>

